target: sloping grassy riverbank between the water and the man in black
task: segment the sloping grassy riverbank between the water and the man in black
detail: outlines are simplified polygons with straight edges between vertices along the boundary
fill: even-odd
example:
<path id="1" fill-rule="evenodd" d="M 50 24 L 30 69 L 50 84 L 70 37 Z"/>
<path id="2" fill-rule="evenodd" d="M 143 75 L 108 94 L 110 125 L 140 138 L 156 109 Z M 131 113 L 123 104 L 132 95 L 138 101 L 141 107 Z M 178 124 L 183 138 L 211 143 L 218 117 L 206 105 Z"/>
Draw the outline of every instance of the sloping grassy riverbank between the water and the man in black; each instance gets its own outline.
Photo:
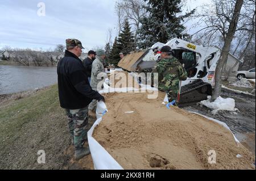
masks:
<path id="1" fill-rule="evenodd" d="M 1 97 L 0 97 L 1 98 Z M 89 128 L 95 120 L 89 119 Z M 0 99 L 0 169 L 93 169 L 90 155 L 73 160 L 57 85 Z M 38 163 L 38 151 L 46 164 Z"/>

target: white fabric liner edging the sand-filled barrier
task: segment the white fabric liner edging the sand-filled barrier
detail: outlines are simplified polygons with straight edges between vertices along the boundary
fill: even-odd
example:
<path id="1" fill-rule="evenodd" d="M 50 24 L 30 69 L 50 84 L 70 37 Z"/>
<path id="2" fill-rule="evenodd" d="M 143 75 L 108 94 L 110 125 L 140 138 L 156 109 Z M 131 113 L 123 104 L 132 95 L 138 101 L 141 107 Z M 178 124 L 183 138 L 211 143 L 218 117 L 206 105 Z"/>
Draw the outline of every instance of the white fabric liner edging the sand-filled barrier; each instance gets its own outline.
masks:
<path id="1" fill-rule="evenodd" d="M 146 86 L 146 85 L 141 85 L 141 89 L 139 90 L 158 90 L 154 87 L 151 86 Z M 107 92 L 128 92 L 128 91 L 134 91 L 134 90 L 138 90 L 138 89 L 134 89 L 133 87 L 129 87 L 129 88 L 117 88 L 114 89 L 112 87 L 109 87 L 108 85 L 106 85 L 106 83 L 104 83 L 104 90 L 100 91 L 100 93 L 107 93 Z M 167 95 L 166 95 L 167 97 Z M 164 102 L 166 102 L 166 99 L 164 99 Z M 103 102 L 102 102 L 103 103 Z M 106 105 L 105 103 L 103 104 L 97 104 L 97 106 L 101 105 L 100 110 L 102 110 L 102 108 L 106 109 Z M 99 109 L 98 109 L 99 110 Z M 108 110 L 106 110 L 108 111 Z M 196 113 L 196 112 L 191 112 L 191 113 Z M 200 115 L 199 113 L 196 113 L 197 115 Z M 115 161 L 115 159 L 112 157 L 112 155 L 110 155 L 108 153 L 108 151 L 106 151 L 93 137 L 93 131 L 94 128 L 100 124 L 101 120 L 102 120 L 102 115 L 100 113 L 98 113 L 98 116 L 100 116 L 99 118 L 97 117 L 97 120 L 95 121 L 95 123 L 93 124 L 92 128 L 90 128 L 90 130 L 88 131 L 88 144 L 89 144 L 89 148 L 90 148 L 90 153 L 92 155 L 92 159 L 93 159 L 93 164 L 94 164 L 94 169 L 95 170 L 123 170 L 122 166 L 119 165 L 119 163 L 117 161 Z M 207 117 L 204 115 L 201 115 L 209 120 L 212 120 L 218 124 L 221 124 L 222 126 L 224 126 L 226 129 L 229 129 L 228 125 L 226 125 L 226 123 L 223 123 L 222 121 L 213 119 L 211 117 Z M 232 131 L 230 131 L 232 133 Z M 233 133 L 232 133 L 233 134 Z M 234 140 L 236 140 L 236 142 L 239 142 L 237 140 L 237 138 L 234 136 Z"/>

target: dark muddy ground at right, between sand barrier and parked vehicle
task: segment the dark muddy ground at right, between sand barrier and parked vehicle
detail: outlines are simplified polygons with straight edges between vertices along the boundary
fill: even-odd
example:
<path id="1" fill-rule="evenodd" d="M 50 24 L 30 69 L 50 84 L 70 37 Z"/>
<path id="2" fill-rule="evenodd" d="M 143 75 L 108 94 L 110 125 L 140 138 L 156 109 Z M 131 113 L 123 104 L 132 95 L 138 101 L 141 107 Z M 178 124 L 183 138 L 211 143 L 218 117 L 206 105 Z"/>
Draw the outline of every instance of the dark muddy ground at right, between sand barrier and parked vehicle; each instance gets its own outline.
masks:
<path id="1" fill-rule="evenodd" d="M 199 103 L 183 107 L 183 109 L 223 121 L 238 140 L 255 154 L 255 96 L 226 89 L 222 89 L 221 96 L 222 98 L 233 98 L 239 111 L 218 111 L 216 115 L 213 115 L 210 108 Z"/>

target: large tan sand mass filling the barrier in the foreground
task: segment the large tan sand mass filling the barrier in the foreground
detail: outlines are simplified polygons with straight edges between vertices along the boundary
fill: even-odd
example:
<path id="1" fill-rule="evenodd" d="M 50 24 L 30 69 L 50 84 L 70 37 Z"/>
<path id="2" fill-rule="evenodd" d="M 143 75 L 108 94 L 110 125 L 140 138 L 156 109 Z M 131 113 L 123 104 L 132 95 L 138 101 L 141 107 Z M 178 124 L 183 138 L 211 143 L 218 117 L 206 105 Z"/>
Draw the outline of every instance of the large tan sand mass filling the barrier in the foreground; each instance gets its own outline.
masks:
<path id="1" fill-rule="evenodd" d="M 105 94 L 108 112 L 93 137 L 123 169 L 255 169 L 255 156 L 228 129 L 177 107 L 168 110 L 164 96 Z M 209 150 L 216 151 L 216 164 L 208 163 Z"/>

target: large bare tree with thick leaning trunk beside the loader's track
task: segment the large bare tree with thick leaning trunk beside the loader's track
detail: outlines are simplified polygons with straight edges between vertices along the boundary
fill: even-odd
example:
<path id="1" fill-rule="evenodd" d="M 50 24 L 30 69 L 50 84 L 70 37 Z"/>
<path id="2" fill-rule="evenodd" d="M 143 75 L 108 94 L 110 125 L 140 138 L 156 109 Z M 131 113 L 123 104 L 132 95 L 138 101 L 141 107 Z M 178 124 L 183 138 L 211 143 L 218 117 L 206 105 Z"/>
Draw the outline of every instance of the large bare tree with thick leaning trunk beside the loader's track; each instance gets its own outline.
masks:
<path id="1" fill-rule="evenodd" d="M 204 7 L 200 15 L 196 16 L 200 18 L 199 21 L 203 22 L 204 26 L 195 33 L 200 32 L 201 37 L 207 37 L 204 40 L 208 43 L 217 43 L 216 40 L 218 40 L 219 47 L 222 47 L 220 61 L 218 61 L 216 68 L 212 100 L 220 95 L 221 73 L 229 51 L 233 48 L 233 53 L 238 52 L 238 49 L 244 53 L 248 48 L 246 44 L 251 41 L 249 38 L 251 35 L 248 38 L 246 35 L 249 35 L 248 32 L 255 34 L 255 28 L 254 30 L 252 28 L 255 26 L 255 0 L 213 0 L 213 2 L 212 6 Z M 244 43 L 245 40 L 247 40 L 246 43 Z M 243 57 L 241 53 L 238 58 L 240 60 Z"/>

